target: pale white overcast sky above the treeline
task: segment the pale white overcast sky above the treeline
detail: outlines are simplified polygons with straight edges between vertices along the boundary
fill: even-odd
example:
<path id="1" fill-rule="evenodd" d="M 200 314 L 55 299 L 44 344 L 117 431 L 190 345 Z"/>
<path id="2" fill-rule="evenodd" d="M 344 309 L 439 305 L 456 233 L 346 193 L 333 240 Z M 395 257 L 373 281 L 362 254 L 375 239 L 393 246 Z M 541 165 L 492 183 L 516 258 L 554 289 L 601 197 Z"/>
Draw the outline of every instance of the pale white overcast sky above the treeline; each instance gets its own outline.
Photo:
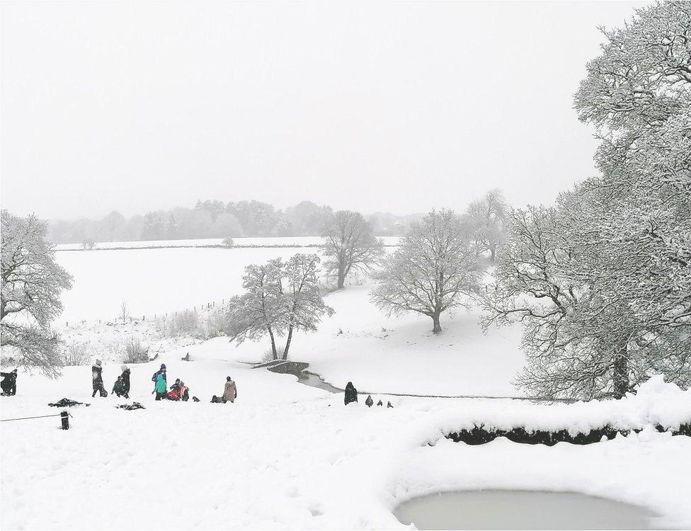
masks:
<path id="1" fill-rule="evenodd" d="M 552 202 L 594 172 L 597 26 L 643 5 L 4 2 L 2 206 Z"/>

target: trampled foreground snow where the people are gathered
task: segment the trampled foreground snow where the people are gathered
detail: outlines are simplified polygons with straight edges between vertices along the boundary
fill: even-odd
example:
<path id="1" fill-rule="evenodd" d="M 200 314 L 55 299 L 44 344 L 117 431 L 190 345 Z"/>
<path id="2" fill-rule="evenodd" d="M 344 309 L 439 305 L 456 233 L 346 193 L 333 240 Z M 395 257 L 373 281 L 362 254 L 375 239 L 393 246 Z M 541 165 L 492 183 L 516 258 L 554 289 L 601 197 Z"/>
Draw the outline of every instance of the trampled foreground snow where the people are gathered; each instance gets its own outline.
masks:
<path id="1" fill-rule="evenodd" d="M 187 351 L 191 362 L 180 360 Z M 161 360 L 201 403 L 153 400 Z M 118 373 L 105 365 L 108 387 Z M 236 403 L 210 404 L 226 375 Z M 56 413 L 46 404 L 62 396 L 92 404 L 70 411 L 67 431 L 57 417 L 1 424 L 3 529 L 393 529 L 404 526 L 391 510 L 413 496 L 489 487 L 592 493 L 648 507 L 660 527 L 691 525 L 691 438 L 646 428 L 585 447 L 440 439 L 479 418 L 574 430 L 588 429 L 586 418 L 691 418 L 691 393 L 659 379 L 602 404 L 382 396 L 394 409 L 367 409 L 361 396 L 344 407 L 341 394 L 235 362 L 223 338 L 132 366 L 132 399 L 145 410 L 91 399 L 90 376 L 88 367 L 55 381 L 22 373 L 18 395 L 1 399 L 2 418 Z"/>

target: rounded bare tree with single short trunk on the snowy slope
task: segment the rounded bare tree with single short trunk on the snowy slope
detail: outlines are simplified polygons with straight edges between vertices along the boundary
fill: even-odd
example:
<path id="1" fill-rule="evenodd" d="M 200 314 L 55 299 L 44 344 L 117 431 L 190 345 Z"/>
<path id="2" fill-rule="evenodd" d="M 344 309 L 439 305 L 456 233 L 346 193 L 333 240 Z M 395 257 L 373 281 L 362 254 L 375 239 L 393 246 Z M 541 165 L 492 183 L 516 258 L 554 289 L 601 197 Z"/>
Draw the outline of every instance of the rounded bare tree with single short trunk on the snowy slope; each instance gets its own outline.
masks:
<path id="1" fill-rule="evenodd" d="M 467 226 L 452 210 L 433 211 L 411 224 L 384 261 L 371 299 L 388 314 L 429 316 L 438 333 L 441 314 L 467 304 L 464 296 L 476 291 L 478 276 Z"/>

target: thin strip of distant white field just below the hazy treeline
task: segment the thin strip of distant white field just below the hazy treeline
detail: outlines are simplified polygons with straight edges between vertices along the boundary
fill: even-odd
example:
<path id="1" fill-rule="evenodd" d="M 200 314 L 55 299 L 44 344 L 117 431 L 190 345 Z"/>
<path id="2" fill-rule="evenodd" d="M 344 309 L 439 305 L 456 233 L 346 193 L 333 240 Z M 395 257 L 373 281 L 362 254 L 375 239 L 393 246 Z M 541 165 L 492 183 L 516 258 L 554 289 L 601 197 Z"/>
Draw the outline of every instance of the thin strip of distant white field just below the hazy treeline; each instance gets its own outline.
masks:
<path id="1" fill-rule="evenodd" d="M 384 245 L 397 245 L 399 236 L 380 236 Z M 275 238 L 234 238 L 236 246 L 317 246 L 324 243 L 320 236 L 282 236 Z M 99 241 L 93 249 L 148 249 L 151 247 L 208 247 L 222 245 L 222 238 L 203 238 L 192 240 L 150 240 L 150 241 Z M 81 244 L 57 244 L 58 251 L 81 251 Z"/>

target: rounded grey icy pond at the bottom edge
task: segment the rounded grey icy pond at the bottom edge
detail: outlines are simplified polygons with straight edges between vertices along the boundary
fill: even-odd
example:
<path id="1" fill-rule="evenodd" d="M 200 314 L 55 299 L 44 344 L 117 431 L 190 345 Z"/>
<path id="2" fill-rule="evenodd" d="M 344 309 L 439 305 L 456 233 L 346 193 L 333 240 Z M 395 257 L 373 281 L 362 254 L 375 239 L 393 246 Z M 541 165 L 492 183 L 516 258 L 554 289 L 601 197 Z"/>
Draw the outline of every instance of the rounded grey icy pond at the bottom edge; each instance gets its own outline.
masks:
<path id="1" fill-rule="evenodd" d="M 413 498 L 394 510 L 401 523 L 429 529 L 660 529 L 656 515 L 578 493 L 461 491 Z"/>

